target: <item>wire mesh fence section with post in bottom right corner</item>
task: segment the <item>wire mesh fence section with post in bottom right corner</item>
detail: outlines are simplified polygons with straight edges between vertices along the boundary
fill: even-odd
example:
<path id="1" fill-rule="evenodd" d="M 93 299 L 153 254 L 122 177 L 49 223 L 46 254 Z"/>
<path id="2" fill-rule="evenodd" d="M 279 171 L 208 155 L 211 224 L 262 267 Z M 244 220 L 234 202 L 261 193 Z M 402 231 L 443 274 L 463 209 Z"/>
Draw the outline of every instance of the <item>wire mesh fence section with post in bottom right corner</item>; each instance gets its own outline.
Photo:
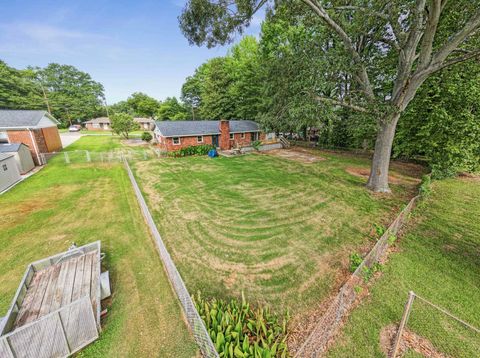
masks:
<path id="1" fill-rule="evenodd" d="M 480 329 L 443 307 L 409 293 L 390 356 L 478 357 Z"/>

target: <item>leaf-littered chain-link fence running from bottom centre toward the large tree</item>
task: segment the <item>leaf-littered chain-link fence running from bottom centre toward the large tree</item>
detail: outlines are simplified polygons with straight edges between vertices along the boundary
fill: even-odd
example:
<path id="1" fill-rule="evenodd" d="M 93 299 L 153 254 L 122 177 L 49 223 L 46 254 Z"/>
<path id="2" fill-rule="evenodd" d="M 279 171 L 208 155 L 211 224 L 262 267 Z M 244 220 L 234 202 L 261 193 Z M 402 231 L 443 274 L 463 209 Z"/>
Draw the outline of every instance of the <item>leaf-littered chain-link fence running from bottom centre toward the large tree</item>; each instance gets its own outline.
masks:
<path id="1" fill-rule="evenodd" d="M 318 357 L 325 352 L 330 341 L 338 333 L 344 318 L 352 309 L 360 292 L 359 287 L 364 283 L 365 275 L 386 255 L 392 238 L 397 235 L 405 223 L 418 198 L 419 197 L 415 197 L 410 200 L 408 205 L 400 212 L 395 221 L 377 241 L 356 271 L 350 276 L 347 282 L 345 282 L 340 292 L 330 303 L 325 314 L 320 318 L 308 338 L 296 352 L 295 357 Z"/>

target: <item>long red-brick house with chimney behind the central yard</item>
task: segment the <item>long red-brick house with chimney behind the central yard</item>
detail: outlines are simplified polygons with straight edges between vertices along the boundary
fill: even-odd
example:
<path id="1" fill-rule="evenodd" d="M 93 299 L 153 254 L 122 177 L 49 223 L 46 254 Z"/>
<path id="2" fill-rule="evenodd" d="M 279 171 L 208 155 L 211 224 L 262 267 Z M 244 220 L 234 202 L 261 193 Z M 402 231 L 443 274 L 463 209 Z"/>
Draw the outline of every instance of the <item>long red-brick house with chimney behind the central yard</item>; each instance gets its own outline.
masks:
<path id="1" fill-rule="evenodd" d="M 203 144 L 228 150 L 265 139 L 253 121 L 157 121 L 155 124 L 155 140 L 166 151 Z"/>

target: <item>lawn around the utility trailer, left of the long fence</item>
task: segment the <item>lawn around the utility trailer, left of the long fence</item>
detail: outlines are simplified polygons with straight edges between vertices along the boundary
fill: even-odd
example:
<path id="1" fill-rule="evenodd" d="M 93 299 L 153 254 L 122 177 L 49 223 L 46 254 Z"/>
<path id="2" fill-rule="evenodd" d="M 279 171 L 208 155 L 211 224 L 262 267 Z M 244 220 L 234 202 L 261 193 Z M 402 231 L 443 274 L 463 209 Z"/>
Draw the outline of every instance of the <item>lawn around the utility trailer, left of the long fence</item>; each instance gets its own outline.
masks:
<path id="1" fill-rule="evenodd" d="M 116 145 L 103 138 L 77 143 L 89 149 Z M 72 242 L 96 240 L 107 255 L 112 304 L 100 339 L 81 356 L 196 356 L 120 164 L 48 164 L 0 196 L 0 316 L 28 263 L 64 251 Z"/>

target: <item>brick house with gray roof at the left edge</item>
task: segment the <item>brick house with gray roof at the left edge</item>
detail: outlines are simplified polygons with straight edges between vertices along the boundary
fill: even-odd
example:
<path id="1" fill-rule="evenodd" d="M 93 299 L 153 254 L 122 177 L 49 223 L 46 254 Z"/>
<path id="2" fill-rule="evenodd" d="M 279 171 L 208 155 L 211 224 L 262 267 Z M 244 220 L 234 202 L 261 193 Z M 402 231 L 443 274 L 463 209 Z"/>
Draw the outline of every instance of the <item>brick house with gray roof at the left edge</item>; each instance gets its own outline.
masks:
<path id="1" fill-rule="evenodd" d="M 44 164 L 41 153 L 62 149 L 59 122 L 46 111 L 0 110 L 0 144 L 23 143 L 36 165 Z"/>

